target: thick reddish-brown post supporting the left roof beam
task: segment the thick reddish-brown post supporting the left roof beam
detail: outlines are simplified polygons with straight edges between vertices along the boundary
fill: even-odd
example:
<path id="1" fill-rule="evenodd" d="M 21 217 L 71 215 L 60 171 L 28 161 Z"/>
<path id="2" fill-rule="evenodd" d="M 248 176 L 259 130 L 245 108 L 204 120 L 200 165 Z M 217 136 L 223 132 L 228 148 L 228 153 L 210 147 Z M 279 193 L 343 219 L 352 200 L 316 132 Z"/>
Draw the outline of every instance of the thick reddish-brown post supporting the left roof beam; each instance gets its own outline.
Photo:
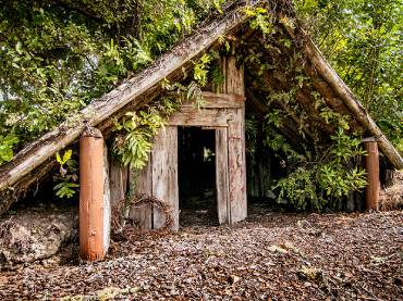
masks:
<path id="1" fill-rule="evenodd" d="M 103 247 L 103 138 L 89 128 L 80 138 L 80 255 L 83 260 L 105 258 Z"/>

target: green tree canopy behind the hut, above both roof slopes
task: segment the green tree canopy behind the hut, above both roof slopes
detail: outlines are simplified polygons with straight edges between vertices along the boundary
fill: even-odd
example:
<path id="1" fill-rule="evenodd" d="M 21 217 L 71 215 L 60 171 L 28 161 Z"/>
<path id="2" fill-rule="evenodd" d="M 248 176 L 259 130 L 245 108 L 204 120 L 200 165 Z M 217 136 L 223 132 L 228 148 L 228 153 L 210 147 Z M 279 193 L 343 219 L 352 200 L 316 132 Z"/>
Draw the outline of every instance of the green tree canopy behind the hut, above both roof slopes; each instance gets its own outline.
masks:
<path id="1" fill-rule="evenodd" d="M 190 34 L 223 0 L 1 1 L 0 164 Z M 402 150 L 402 3 L 294 0 L 320 49 Z"/>

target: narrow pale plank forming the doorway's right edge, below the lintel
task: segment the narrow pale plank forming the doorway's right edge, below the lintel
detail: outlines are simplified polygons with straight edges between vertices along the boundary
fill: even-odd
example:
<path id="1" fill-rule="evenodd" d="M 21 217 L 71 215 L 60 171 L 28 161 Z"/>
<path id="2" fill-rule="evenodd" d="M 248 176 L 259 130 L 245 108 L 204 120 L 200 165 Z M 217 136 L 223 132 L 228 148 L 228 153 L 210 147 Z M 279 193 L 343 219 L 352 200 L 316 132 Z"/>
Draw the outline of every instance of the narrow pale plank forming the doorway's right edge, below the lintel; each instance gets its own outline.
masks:
<path id="1" fill-rule="evenodd" d="M 228 130 L 216 129 L 216 186 L 219 224 L 229 223 Z"/>

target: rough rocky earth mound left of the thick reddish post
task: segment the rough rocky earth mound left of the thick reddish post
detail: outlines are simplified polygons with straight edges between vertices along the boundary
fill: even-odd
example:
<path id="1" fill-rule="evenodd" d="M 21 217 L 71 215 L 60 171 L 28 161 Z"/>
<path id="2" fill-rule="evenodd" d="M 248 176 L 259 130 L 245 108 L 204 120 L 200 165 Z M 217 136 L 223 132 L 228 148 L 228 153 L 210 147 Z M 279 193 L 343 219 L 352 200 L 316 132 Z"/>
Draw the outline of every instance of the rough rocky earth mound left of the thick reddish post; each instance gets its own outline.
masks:
<path id="1" fill-rule="evenodd" d="M 0 267 L 61 261 L 77 239 L 76 209 L 33 208 L 0 221 Z"/>

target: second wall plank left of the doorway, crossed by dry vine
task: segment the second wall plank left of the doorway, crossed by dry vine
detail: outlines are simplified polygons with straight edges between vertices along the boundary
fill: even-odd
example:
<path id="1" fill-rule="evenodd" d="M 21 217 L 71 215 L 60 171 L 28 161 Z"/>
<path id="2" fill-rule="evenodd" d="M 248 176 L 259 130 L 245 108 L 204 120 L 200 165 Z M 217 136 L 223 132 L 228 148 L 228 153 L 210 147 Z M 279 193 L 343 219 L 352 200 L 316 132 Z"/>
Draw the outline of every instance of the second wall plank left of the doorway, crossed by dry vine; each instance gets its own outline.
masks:
<path id="1" fill-rule="evenodd" d="M 130 185 L 134 193 L 152 196 L 152 175 L 151 175 L 152 155 L 142 171 L 130 171 Z M 152 229 L 152 205 L 139 203 L 130 209 L 129 216 L 136 221 L 139 229 Z"/>

